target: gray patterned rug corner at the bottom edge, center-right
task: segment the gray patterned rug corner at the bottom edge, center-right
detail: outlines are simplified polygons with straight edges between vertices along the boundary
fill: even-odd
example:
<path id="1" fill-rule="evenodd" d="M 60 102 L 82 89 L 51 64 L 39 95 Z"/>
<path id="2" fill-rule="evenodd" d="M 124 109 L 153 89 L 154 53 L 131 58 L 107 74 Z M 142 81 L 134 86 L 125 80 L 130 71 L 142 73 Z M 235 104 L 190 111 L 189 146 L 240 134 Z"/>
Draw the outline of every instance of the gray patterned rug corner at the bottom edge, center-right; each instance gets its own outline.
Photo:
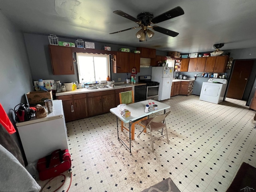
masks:
<path id="1" fill-rule="evenodd" d="M 142 192 L 180 192 L 180 190 L 169 177 L 150 188 L 144 189 Z"/>

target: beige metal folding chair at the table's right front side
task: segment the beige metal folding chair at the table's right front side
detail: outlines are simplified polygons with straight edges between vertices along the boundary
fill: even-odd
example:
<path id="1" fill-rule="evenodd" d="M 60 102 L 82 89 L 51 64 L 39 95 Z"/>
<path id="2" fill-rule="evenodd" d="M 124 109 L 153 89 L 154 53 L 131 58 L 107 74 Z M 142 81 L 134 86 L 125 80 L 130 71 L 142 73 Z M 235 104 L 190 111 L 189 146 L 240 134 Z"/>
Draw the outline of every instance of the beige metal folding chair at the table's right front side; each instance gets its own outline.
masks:
<path id="1" fill-rule="evenodd" d="M 151 144 L 152 144 L 152 151 L 154 153 L 154 140 L 159 139 L 163 136 L 166 135 L 167 137 L 167 142 L 169 144 L 169 138 L 168 138 L 168 132 L 167 132 L 167 127 L 166 127 L 166 116 L 168 116 L 170 114 L 170 111 L 168 113 L 162 114 L 162 115 L 157 115 L 153 118 L 148 118 L 146 120 L 143 120 L 141 123 L 144 125 L 144 129 L 140 132 L 140 134 L 146 130 L 147 128 L 150 130 L 150 138 L 151 138 Z M 152 139 L 152 132 L 154 131 L 159 131 L 160 129 L 162 129 L 162 133 L 163 133 L 163 128 L 165 128 L 166 130 L 166 134 L 162 135 L 160 137 L 154 138 Z M 137 136 L 139 137 L 140 134 Z"/>

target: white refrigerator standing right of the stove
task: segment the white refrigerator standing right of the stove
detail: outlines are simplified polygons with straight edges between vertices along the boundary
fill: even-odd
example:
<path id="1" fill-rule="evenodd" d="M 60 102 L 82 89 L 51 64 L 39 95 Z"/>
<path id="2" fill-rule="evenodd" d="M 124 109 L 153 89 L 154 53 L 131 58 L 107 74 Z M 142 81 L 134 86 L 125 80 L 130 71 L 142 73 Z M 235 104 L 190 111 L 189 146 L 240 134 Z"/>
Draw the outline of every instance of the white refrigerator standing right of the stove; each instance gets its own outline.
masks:
<path id="1" fill-rule="evenodd" d="M 171 97 L 173 71 L 173 67 L 152 67 L 151 80 L 160 83 L 158 90 L 159 101 L 170 99 Z"/>

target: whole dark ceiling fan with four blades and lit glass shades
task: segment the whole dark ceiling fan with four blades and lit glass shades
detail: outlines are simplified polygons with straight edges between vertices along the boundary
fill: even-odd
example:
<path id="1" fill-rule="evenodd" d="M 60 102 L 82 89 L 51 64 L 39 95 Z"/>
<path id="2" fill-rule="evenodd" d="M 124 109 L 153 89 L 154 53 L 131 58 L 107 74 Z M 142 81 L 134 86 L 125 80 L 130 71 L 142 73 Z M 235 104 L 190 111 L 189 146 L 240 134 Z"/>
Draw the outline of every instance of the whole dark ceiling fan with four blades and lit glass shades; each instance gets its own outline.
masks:
<path id="1" fill-rule="evenodd" d="M 148 28 L 151 28 L 152 30 L 155 30 L 157 32 L 160 32 L 162 34 L 166 34 L 168 36 L 172 36 L 172 37 L 176 37 L 179 33 L 174 32 L 172 30 L 168 30 L 166 28 L 162 28 L 159 26 L 150 26 L 150 24 L 157 24 L 175 17 L 178 17 L 180 15 L 184 14 L 184 10 L 178 6 L 175 7 L 167 12 L 164 12 L 163 14 L 160 14 L 156 17 L 154 17 L 154 15 L 150 12 L 141 12 L 140 14 L 137 15 L 137 18 L 134 18 L 133 16 L 130 16 L 129 14 L 121 11 L 121 10 L 117 10 L 113 12 L 114 14 L 120 15 L 124 18 L 127 18 L 129 20 L 132 20 L 134 22 L 136 22 L 139 26 L 137 27 L 131 27 L 125 30 L 121 30 L 121 31 L 117 31 L 117 32 L 113 32 L 110 34 L 115 34 L 115 33 L 120 33 L 120 32 L 124 32 L 127 30 L 131 30 L 131 29 L 136 29 L 141 27 L 142 29 L 140 29 L 137 33 L 136 33 L 136 37 L 138 39 L 140 39 L 140 41 L 145 41 L 146 40 L 146 34 L 148 36 L 148 38 L 152 38 L 154 36 L 154 32 L 152 32 L 151 30 L 149 30 Z"/>

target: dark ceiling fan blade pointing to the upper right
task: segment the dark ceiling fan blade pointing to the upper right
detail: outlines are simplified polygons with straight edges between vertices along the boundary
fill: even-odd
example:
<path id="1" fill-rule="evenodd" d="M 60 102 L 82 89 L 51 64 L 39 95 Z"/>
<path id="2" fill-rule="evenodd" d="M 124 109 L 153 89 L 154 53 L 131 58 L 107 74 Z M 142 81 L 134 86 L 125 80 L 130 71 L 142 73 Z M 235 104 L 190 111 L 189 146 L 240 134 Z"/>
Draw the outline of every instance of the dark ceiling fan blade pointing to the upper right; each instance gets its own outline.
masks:
<path id="1" fill-rule="evenodd" d="M 178 17 L 183 14 L 184 14 L 184 10 L 180 6 L 178 6 L 169 11 L 164 12 L 163 14 L 160 14 L 160 15 L 154 17 L 151 20 L 151 23 L 154 23 L 154 24 L 160 23 L 162 21 L 166 21 L 168 19 L 172 19 L 174 17 Z"/>

